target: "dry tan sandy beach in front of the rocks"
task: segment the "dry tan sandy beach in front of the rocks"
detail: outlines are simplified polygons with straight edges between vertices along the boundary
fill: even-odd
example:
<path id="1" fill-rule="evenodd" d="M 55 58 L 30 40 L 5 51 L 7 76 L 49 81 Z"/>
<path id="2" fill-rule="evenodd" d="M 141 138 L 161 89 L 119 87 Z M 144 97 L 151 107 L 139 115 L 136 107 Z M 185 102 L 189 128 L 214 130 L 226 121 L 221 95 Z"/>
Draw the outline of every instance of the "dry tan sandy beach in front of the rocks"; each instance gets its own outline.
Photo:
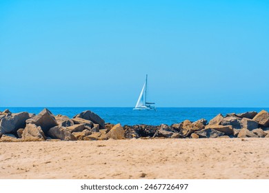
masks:
<path id="1" fill-rule="evenodd" d="M 0 179 L 269 179 L 269 138 L 0 143 Z"/>

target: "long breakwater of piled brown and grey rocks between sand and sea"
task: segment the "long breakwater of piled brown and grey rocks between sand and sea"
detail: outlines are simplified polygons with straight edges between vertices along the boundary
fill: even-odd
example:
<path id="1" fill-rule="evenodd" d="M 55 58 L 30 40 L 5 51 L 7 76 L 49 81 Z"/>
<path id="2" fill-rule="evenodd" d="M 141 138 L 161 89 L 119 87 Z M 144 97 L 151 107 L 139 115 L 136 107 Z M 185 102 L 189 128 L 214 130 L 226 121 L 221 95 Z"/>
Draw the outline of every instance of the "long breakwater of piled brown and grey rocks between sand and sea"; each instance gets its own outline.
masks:
<path id="1" fill-rule="evenodd" d="M 199 119 L 172 125 L 123 125 L 105 123 L 90 110 L 75 115 L 54 116 L 48 109 L 39 114 L 0 112 L 0 141 L 94 141 L 108 139 L 199 139 L 269 137 L 269 113 L 217 114 L 209 122 Z"/>

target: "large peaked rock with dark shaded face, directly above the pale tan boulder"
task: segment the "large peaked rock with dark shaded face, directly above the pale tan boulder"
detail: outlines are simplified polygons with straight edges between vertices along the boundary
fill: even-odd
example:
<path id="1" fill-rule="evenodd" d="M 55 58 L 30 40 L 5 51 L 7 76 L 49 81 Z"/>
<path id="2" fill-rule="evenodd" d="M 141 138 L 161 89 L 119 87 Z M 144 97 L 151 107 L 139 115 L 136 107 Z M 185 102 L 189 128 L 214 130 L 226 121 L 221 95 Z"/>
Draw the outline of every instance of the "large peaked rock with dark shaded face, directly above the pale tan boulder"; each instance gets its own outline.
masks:
<path id="1" fill-rule="evenodd" d="M 46 108 L 37 114 L 37 116 L 28 119 L 26 123 L 32 123 L 34 125 L 40 126 L 45 133 L 48 132 L 50 128 L 53 128 L 57 125 L 57 121 L 54 115 Z"/>

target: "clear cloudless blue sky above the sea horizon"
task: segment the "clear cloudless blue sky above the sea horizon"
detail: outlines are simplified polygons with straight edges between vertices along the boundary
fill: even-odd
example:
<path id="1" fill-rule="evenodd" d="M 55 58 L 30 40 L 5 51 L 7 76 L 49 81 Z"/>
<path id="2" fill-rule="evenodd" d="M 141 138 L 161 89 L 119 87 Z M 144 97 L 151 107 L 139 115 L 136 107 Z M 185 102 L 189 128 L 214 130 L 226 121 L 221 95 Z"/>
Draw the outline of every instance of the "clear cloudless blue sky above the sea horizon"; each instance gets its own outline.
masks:
<path id="1" fill-rule="evenodd" d="M 0 106 L 269 107 L 269 1 L 0 0 Z"/>

